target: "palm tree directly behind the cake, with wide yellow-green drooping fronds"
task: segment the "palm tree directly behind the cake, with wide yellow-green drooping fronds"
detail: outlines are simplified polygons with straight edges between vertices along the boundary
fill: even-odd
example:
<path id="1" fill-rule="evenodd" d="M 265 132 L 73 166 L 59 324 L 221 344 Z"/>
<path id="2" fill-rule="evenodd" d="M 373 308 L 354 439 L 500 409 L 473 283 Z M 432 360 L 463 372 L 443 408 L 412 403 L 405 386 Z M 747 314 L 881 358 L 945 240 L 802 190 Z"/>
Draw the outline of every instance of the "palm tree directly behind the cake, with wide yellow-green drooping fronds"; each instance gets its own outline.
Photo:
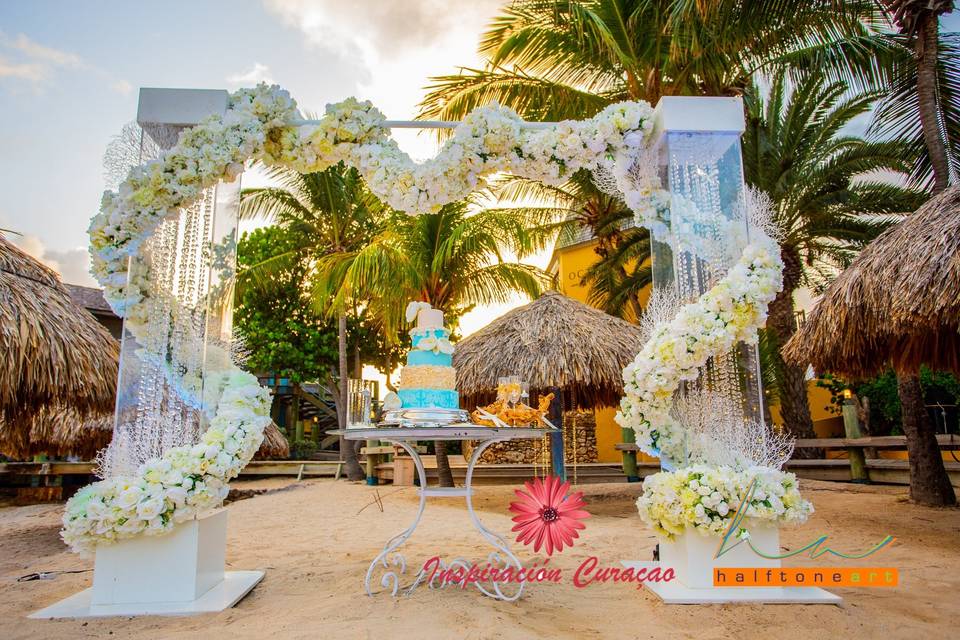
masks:
<path id="1" fill-rule="evenodd" d="M 423 300 L 442 310 L 456 329 L 475 305 L 508 302 L 517 292 L 535 298 L 550 284 L 542 270 L 505 259 L 506 253 L 519 258 L 542 248 L 528 232 L 536 222 L 532 215 L 503 210 L 471 215 L 466 202 L 435 214 L 395 214 L 362 247 L 318 260 L 314 296 L 370 300 L 392 323 L 398 323 L 408 300 Z M 452 487 L 442 441 L 436 452 L 440 484 Z"/>

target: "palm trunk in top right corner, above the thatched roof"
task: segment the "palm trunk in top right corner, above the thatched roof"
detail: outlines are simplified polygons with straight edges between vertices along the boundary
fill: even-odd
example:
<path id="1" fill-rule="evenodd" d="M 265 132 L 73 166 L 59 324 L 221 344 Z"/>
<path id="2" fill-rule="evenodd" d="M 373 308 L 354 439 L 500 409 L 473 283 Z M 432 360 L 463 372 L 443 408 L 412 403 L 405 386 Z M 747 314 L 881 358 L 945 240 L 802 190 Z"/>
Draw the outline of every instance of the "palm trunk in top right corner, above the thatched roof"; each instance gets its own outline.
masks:
<path id="1" fill-rule="evenodd" d="M 940 106 L 937 100 L 937 48 L 939 19 L 930 11 L 919 18 L 913 51 L 917 62 L 917 102 L 920 107 L 920 125 L 923 142 L 933 165 L 933 195 L 947 188 L 950 164 L 947 145 L 941 130 Z"/>

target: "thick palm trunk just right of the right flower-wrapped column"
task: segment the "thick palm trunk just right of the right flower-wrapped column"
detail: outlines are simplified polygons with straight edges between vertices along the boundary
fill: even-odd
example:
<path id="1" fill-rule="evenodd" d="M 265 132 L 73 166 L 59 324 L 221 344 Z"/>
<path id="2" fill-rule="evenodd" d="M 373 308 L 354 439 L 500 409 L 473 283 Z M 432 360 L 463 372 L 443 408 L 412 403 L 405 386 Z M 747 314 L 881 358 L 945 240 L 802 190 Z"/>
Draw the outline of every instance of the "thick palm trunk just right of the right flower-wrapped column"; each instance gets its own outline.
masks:
<path id="1" fill-rule="evenodd" d="M 783 425 L 796 438 L 815 438 L 813 419 L 810 417 L 810 403 L 807 399 L 807 368 L 787 364 L 780 355 L 780 348 L 796 332 L 797 324 L 793 308 L 793 292 L 800 282 L 800 260 L 789 251 L 781 251 L 783 256 L 783 291 L 770 303 L 767 326 L 772 329 L 777 346 L 777 386 L 779 387 L 780 415 Z M 798 449 L 798 457 L 816 457 L 815 449 Z"/>

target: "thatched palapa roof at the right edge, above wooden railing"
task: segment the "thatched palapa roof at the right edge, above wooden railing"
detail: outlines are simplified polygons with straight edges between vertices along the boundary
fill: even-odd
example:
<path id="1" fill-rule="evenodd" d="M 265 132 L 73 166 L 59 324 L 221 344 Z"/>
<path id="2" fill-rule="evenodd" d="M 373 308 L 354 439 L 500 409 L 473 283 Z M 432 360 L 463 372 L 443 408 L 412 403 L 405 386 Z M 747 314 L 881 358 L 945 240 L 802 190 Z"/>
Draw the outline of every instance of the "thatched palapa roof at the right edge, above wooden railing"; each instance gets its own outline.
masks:
<path id="1" fill-rule="evenodd" d="M 784 357 L 854 377 L 890 365 L 960 373 L 960 187 L 871 242 L 823 294 Z"/>

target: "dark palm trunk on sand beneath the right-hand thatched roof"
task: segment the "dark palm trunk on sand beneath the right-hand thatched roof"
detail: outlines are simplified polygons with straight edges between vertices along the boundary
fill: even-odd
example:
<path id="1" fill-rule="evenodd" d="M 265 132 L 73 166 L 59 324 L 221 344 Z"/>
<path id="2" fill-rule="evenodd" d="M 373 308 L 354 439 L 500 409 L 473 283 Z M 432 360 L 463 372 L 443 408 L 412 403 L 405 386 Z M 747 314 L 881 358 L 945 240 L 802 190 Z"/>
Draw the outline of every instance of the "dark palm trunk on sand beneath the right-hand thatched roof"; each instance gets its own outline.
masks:
<path id="1" fill-rule="evenodd" d="M 897 392 L 910 458 L 910 499 L 930 507 L 956 504 L 957 497 L 943 466 L 933 422 L 923 406 L 923 391 L 917 374 L 898 372 Z"/>

